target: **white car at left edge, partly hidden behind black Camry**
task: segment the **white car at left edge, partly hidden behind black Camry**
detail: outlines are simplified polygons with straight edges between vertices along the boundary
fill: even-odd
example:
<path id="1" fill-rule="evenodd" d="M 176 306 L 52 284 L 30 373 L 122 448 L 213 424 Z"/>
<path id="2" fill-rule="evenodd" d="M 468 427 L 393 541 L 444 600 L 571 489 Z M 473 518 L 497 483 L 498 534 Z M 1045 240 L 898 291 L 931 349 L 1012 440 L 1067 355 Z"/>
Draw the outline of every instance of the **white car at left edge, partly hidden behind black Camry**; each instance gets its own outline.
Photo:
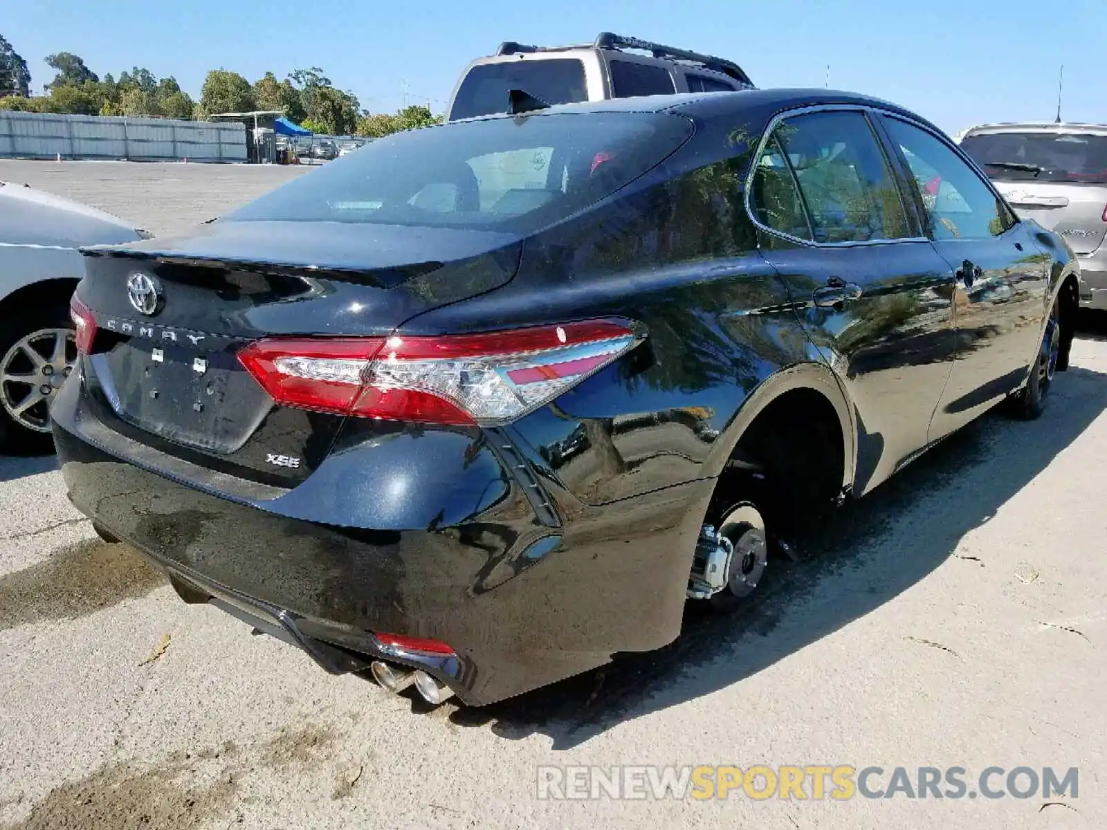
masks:
<path id="1" fill-rule="evenodd" d="M 69 302 L 86 245 L 151 235 L 27 185 L 0 181 L 0 449 L 49 449 L 50 405 L 76 357 Z"/>

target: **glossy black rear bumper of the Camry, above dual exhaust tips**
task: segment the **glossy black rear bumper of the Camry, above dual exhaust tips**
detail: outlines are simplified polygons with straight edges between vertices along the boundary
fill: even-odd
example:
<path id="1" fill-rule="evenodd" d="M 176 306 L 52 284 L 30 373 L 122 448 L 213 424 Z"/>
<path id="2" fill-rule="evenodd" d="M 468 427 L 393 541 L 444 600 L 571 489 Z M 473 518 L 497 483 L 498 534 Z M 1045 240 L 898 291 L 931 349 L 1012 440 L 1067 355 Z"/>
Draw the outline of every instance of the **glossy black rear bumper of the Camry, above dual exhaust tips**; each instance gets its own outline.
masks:
<path id="1" fill-rule="evenodd" d="M 713 486 L 693 481 L 604 508 L 551 490 L 565 518 L 550 527 L 506 465 L 470 452 L 469 470 L 495 464 L 496 498 L 463 519 L 413 523 L 404 510 L 352 506 L 351 494 L 389 501 L 370 491 L 373 446 L 346 447 L 339 470 L 327 470 L 328 459 L 283 495 L 249 497 L 249 488 L 221 491 L 209 473 L 108 429 L 76 381 L 62 388 L 53 417 L 73 504 L 154 559 L 186 601 L 219 605 L 331 672 L 359 671 L 376 656 L 422 666 L 472 705 L 671 642 Z M 411 453 L 427 450 L 425 433 L 406 438 Z M 424 496 L 455 473 L 451 446 L 446 438 L 437 447 L 434 479 L 411 483 Z M 462 457 L 455 463 L 464 478 Z M 438 515 L 458 511 L 444 505 Z M 374 631 L 439 640 L 457 656 L 432 665 L 397 658 L 377 647 Z"/>

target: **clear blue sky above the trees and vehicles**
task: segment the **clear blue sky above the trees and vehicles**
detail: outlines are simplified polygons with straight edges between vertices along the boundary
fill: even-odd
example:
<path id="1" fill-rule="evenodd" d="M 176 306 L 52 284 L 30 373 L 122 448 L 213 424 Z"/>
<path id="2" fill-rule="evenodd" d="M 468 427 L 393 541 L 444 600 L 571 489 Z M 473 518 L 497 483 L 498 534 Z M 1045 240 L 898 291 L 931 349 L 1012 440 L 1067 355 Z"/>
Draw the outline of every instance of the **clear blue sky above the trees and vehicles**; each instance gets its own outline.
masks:
<path id="1" fill-rule="evenodd" d="M 0 0 L 0 34 L 40 92 L 52 52 L 103 75 L 134 65 L 195 97 L 224 68 L 250 81 L 321 66 L 362 106 L 442 111 L 462 68 L 503 40 L 571 43 L 602 30 L 730 58 L 759 86 L 830 86 L 908 106 L 950 133 L 1053 120 L 1065 64 L 1068 121 L 1107 121 L 1104 0 Z"/>

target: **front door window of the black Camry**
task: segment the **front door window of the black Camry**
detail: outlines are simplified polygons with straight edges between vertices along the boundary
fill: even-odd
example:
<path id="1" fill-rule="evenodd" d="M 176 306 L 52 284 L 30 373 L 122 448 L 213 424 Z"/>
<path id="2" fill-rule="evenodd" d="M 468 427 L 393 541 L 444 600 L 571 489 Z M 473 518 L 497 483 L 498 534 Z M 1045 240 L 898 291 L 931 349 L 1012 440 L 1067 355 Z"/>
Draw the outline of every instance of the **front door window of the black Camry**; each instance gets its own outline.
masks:
<path id="1" fill-rule="evenodd" d="M 899 118 L 886 117 L 884 124 L 911 170 L 934 239 L 997 237 L 1014 225 L 999 197 L 943 141 Z"/>

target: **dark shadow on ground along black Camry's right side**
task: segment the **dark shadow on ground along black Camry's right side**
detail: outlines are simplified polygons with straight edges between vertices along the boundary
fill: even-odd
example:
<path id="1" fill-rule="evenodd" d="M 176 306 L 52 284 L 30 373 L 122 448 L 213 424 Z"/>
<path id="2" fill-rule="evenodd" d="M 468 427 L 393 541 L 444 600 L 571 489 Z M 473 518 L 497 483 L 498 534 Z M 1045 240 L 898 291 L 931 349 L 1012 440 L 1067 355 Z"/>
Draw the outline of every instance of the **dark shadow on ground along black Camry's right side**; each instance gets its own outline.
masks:
<path id="1" fill-rule="evenodd" d="M 773 584 L 738 613 L 714 615 L 690 605 L 683 634 L 664 649 L 623 655 L 493 706 L 463 707 L 451 719 L 509 739 L 547 735 L 554 749 L 567 749 L 763 671 L 945 562 L 965 533 L 993 518 L 1103 413 L 1107 375 L 1073 367 L 1057 376 L 1049 403 L 1037 422 L 1011 421 L 1000 411 L 979 418 L 846 506 L 818 549 L 778 569 Z M 777 629 L 786 618 L 789 624 Z"/>

